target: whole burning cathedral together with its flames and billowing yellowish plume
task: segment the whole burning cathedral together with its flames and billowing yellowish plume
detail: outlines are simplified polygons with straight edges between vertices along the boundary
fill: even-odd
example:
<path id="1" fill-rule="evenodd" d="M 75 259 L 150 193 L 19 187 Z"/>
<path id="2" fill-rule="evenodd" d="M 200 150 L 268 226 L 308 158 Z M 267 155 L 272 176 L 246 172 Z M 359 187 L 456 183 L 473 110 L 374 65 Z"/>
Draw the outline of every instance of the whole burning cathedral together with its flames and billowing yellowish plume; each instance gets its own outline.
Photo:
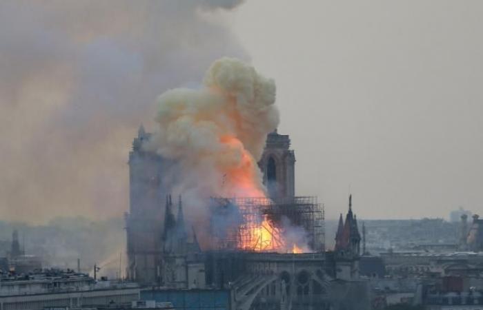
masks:
<path id="1" fill-rule="evenodd" d="M 295 195 L 273 81 L 222 59 L 204 85 L 161 95 L 159 132 L 141 126 L 132 143 L 128 278 L 230 289 L 233 309 L 364 309 L 352 203 L 326 251 L 324 206 Z"/>

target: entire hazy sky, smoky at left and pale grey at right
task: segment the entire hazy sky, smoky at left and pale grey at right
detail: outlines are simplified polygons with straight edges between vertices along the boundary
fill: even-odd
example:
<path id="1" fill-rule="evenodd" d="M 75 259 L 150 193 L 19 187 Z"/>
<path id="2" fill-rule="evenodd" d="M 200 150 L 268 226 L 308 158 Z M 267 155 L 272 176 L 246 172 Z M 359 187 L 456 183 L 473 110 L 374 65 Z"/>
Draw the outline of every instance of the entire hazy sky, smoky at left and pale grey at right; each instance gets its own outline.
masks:
<path id="1" fill-rule="evenodd" d="M 1 1 L 0 216 L 119 216 L 158 94 L 221 56 L 277 83 L 328 218 L 483 213 L 483 2 Z"/>

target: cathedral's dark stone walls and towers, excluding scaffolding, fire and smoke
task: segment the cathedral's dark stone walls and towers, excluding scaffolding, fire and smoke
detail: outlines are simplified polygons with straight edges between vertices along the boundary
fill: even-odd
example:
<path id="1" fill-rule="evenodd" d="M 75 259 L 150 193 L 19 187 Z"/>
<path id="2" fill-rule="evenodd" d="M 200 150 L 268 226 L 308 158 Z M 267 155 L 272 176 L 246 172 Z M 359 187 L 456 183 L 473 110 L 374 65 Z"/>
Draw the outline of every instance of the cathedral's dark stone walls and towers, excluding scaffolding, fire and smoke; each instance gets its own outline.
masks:
<path id="1" fill-rule="evenodd" d="M 172 171 L 173 163 L 144 150 L 142 143 L 149 137 L 141 127 L 129 161 L 130 279 L 164 289 L 229 288 L 233 309 L 240 310 L 366 309 L 365 284 L 357 269 L 360 236 L 351 203 L 334 252 L 325 252 L 318 243 L 317 253 L 311 254 L 201 251 L 194 232 L 193 240 L 188 240 L 181 197 L 175 216 L 170 185 L 163 183 L 163 174 Z M 268 135 L 259 167 L 270 198 L 279 202 L 296 198 L 295 154 L 288 135 L 276 131 Z M 346 304 L 348 294 L 361 296 L 359 303 Z"/>

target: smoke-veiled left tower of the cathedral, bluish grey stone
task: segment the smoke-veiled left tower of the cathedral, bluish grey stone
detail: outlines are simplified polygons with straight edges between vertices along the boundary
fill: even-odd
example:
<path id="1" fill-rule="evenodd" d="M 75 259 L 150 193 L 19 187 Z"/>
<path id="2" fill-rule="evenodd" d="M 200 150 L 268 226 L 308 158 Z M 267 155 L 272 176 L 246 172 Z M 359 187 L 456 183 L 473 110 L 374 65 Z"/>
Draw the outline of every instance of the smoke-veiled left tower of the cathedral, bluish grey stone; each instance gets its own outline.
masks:
<path id="1" fill-rule="evenodd" d="M 128 268 L 130 280 L 140 283 L 159 282 L 162 255 L 164 198 L 168 193 L 163 173 L 169 163 L 143 143 L 150 134 L 139 127 L 129 154 L 130 207 L 126 213 Z"/>

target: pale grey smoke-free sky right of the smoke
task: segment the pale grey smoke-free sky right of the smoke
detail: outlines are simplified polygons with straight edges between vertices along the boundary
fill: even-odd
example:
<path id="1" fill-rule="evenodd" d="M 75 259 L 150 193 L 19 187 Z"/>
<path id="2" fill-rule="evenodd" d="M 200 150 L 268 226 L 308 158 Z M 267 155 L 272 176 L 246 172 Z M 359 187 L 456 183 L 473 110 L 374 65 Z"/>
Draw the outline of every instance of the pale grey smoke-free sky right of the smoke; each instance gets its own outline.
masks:
<path id="1" fill-rule="evenodd" d="M 482 1 L 247 1 L 240 43 L 277 83 L 298 194 L 331 218 L 483 213 Z"/>

